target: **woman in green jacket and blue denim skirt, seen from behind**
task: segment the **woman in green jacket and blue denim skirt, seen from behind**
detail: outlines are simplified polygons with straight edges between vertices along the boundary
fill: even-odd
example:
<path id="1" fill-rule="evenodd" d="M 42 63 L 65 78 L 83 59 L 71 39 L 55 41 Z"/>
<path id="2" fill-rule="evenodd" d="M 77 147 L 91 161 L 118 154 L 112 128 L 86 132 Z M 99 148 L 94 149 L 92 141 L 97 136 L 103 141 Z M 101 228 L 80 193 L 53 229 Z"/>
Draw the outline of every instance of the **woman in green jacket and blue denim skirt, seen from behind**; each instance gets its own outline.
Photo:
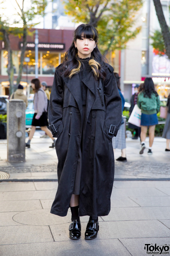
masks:
<path id="1" fill-rule="evenodd" d="M 154 83 L 151 77 L 146 77 L 143 83 L 143 89 L 138 94 L 137 105 L 141 109 L 141 149 L 139 154 L 143 154 L 145 150 L 145 140 L 149 126 L 149 150 L 148 155 L 152 154 L 152 144 L 155 135 L 155 125 L 158 124 L 156 113 L 159 112 L 160 103 L 159 96 L 154 88 Z"/>

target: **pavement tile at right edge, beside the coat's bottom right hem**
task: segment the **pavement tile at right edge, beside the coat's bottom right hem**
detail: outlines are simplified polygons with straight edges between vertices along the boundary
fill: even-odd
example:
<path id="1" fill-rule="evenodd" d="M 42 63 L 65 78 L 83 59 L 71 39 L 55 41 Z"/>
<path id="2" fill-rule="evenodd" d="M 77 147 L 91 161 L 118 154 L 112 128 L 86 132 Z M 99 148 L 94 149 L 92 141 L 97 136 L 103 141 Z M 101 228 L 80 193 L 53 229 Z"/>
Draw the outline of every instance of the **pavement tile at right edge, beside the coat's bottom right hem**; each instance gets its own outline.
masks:
<path id="1" fill-rule="evenodd" d="M 111 208 L 108 216 L 103 216 L 104 221 L 133 221 L 167 219 L 170 207 L 125 207 Z"/>

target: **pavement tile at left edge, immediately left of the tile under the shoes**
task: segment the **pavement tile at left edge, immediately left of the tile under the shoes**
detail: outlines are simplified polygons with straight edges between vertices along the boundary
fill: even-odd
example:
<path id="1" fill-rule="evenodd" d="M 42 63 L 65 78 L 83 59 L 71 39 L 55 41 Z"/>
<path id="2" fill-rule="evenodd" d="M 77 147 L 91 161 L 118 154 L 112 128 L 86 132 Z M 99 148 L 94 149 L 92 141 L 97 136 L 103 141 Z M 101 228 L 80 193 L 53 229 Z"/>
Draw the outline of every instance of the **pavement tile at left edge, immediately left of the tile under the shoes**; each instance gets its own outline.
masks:
<path id="1" fill-rule="evenodd" d="M 8 226 L 0 227 L 0 244 L 22 244 L 52 242 L 53 238 L 48 226 Z M 23 255 L 23 254 L 21 254 Z M 35 255 L 35 254 L 33 254 Z"/>

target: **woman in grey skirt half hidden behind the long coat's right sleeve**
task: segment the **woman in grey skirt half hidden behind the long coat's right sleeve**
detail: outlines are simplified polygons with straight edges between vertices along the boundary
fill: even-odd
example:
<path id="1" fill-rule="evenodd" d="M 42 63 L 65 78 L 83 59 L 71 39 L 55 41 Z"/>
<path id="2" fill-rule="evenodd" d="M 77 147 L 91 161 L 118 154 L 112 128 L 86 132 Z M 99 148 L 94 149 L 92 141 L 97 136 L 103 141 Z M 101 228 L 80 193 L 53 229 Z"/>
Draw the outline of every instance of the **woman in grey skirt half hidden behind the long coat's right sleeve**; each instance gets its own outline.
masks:
<path id="1" fill-rule="evenodd" d="M 117 87 L 118 87 L 118 91 L 122 100 L 122 112 L 124 109 L 124 103 L 125 103 L 125 99 L 121 93 L 121 89 L 120 89 L 120 76 L 118 73 L 114 73 L 115 78 L 116 78 L 116 83 L 117 83 Z M 116 136 L 116 138 L 113 138 L 112 140 L 113 142 L 113 150 L 115 152 L 116 148 L 119 148 L 121 150 L 121 156 L 118 157 L 116 159 L 116 161 L 121 161 L 121 162 L 127 162 L 126 159 L 126 138 L 125 138 L 125 125 L 124 125 L 124 121 L 123 121 L 123 116 L 122 116 L 122 123 L 120 126 L 120 129 L 118 131 L 118 134 Z"/>

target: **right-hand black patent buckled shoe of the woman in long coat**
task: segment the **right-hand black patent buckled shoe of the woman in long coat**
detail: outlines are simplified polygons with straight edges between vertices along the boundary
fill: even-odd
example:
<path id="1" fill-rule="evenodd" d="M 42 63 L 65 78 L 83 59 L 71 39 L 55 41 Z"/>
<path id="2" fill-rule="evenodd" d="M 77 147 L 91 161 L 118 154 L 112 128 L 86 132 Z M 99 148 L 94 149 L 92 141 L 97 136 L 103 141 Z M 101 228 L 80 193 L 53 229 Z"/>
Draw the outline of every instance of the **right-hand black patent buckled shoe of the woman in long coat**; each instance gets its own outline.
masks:
<path id="1" fill-rule="evenodd" d="M 99 231 L 99 222 L 89 219 L 85 232 L 85 239 L 95 239 Z"/>

